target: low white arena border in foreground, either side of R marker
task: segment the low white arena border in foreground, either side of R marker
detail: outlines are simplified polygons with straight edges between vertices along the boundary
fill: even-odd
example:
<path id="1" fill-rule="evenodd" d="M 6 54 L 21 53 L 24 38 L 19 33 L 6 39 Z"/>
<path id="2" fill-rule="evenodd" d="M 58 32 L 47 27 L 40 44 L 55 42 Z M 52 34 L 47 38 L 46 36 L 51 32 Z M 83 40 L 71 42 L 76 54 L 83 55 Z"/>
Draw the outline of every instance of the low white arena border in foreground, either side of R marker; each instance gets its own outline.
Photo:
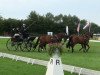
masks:
<path id="1" fill-rule="evenodd" d="M 2 53 L 2 52 L 0 52 L 0 57 L 10 58 L 16 61 L 23 61 L 23 62 L 26 62 L 27 64 L 30 63 L 30 64 L 38 64 L 38 65 L 43 65 L 43 66 L 47 66 L 48 64 L 48 61 L 32 59 L 28 57 L 22 57 L 22 56 L 17 56 L 17 55 L 8 54 L 8 53 Z M 76 66 L 71 66 L 71 65 L 65 65 L 65 64 L 63 64 L 63 69 L 71 73 L 78 73 L 78 75 L 81 75 L 81 74 L 82 75 L 100 75 L 100 71 L 95 71 L 91 69 L 86 69 L 86 68 L 81 68 L 81 67 L 76 67 Z"/>

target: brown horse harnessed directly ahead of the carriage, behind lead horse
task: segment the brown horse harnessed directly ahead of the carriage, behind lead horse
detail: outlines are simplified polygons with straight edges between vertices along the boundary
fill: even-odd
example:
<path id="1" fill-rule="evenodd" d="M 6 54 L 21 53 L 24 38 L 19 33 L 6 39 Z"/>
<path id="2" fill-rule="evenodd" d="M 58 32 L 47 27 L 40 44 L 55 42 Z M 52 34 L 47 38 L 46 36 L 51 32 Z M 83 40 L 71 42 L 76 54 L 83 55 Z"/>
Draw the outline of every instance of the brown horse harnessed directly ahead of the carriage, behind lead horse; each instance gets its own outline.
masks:
<path id="1" fill-rule="evenodd" d="M 34 48 L 36 48 L 37 45 L 39 44 L 39 48 L 46 49 L 47 44 L 61 43 L 62 39 L 64 39 L 64 42 L 66 42 L 67 38 L 68 38 L 68 35 L 66 33 L 58 33 L 55 35 L 41 35 L 37 39 L 37 42 L 36 42 Z M 40 49 L 38 49 L 38 50 L 40 50 Z"/>

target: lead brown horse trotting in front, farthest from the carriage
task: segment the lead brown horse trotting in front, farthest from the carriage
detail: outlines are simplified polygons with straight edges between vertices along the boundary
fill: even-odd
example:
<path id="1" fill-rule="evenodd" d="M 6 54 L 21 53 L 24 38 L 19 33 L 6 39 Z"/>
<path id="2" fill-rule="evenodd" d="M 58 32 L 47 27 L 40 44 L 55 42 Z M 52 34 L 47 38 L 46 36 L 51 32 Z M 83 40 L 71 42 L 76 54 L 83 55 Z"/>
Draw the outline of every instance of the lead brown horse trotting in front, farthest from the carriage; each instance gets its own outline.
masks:
<path id="1" fill-rule="evenodd" d="M 68 43 L 66 44 L 66 47 L 68 48 L 72 48 L 72 52 L 74 52 L 74 46 L 76 45 L 76 44 L 81 44 L 81 46 L 82 46 L 82 48 L 81 49 L 83 49 L 84 48 L 84 52 L 88 52 L 88 50 L 89 50 L 89 48 L 90 48 L 90 46 L 89 46 L 89 39 L 90 38 L 92 38 L 93 37 L 93 33 L 85 33 L 85 34 L 83 34 L 83 35 L 80 35 L 80 36 L 78 36 L 78 35 L 71 35 L 70 37 L 69 37 L 69 41 L 68 41 Z M 86 46 L 88 47 L 88 49 L 86 49 Z M 81 50 L 80 49 L 80 50 Z M 80 51 L 79 50 L 79 51 Z"/>

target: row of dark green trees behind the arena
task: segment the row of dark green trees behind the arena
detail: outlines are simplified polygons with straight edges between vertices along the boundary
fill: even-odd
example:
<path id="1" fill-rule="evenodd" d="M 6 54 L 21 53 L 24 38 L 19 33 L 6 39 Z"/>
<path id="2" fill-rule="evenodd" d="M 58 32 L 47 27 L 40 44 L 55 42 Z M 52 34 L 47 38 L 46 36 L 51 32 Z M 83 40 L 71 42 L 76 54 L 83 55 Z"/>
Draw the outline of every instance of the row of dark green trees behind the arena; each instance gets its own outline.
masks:
<path id="1" fill-rule="evenodd" d="M 36 11 L 31 11 L 27 19 L 5 19 L 0 16 L 0 35 L 11 33 L 12 28 L 20 28 L 23 23 L 27 25 L 29 33 L 32 34 L 47 34 L 47 32 L 66 32 L 66 26 L 69 28 L 69 34 L 77 34 L 77 26 L 80 22 L 80 34 L 88 32 L 88 28 L 83 30 L 87 20 L 80 20 L 76 15 L 56 15 L 47 13 L 40 15 Z M 91 23 L 91 31 L 93 33 L 100 33 L 100 27 Z"/>

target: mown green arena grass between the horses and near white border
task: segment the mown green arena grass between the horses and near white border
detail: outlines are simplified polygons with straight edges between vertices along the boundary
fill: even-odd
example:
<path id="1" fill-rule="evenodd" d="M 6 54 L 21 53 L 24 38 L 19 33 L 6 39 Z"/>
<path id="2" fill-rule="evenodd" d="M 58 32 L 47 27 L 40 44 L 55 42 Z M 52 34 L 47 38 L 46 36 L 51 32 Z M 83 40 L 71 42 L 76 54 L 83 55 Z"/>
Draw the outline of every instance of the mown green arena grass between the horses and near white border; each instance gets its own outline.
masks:
<path id="1" fill-rule="evenodd" d="M 38 53 L 37 51 L 8 51 L 5 46 L 6 41 L 7 39 L 0 39 L 0 52 L 6 52 L 42 60 L 49 60 L 50 58 L 46 51 L 41 53 Z M 90 42 L 90 50 L 88 53 L 84 53 L 83 51 L 79 52 L 80 48 L 80 45 L 76 45 L 75 52 L 71 53 L 71 51 L 68 52 L 68 49 L 64 47 L 64 52 L 61 56 L 62 63 L 100 71 L 100 43 Z"/>

